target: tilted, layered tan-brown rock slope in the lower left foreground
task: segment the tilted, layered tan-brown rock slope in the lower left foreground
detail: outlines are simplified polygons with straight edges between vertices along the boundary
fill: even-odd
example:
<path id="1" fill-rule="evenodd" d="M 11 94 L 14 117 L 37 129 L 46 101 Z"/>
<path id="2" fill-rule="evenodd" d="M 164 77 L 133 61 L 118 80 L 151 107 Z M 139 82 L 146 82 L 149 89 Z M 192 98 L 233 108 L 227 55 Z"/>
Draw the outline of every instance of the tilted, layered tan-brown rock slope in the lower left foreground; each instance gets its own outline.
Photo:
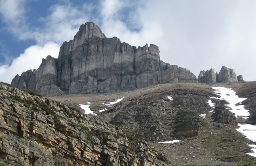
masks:
<path id="1" fill-rule="evenodd" d="M 96 116 L 0 83 L 1 166 L 169 165 L 161 160 L 164 154 Z"/>

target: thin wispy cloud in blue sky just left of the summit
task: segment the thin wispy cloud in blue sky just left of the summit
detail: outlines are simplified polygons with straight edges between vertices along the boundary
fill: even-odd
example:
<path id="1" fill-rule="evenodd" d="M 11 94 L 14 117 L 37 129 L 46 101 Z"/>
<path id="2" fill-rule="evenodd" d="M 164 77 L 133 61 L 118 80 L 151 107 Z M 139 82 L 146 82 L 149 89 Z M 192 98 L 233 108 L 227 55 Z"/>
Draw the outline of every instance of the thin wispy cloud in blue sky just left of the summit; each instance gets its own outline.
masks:
<path id="1" fill-rule="evenodd" d="M 88 7 L 91 8 L 91 6 Z M 59 44 L 72 40 L 80 25 L 90 20 L 89 14 L 74 8 L 70 4 L 54 5 L 50 8 L 50 11 L 49 16 L 40 18 L 40 21 L 45 24 L 45 28 L 32 32 L 33 38 L 39 44 L 44 44 L 49 40 Z"/>

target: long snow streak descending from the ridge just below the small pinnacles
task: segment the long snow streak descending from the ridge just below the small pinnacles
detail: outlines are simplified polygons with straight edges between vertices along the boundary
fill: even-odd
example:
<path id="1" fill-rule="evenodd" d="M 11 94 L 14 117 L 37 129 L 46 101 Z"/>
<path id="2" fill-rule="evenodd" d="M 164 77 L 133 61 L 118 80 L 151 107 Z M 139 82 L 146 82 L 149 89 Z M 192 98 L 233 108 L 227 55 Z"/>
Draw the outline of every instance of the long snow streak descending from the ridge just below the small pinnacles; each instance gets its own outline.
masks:
<path id="1" fill-rule="evenodd" d="M 237 116 L 249 116 L 250 113 L 248 112 L 249 110 L 244 109 L 244 105 L 238 105 L 236 106 L 237 103 L 241 103 L 244 101 L 246 98 L 239 98 L 236 95 L 236 92 L 232 90 L 231 88 L 224 88 L 224 87 L 212 87 L 214 90 L 218 91 L 218 95 L 220 95 L 221 98 L 216 98 L 216 99 L 225 99 L 229 104 L 226 104 L 226 106 L 231 108 L 231 112 L 236 114 Z"/>

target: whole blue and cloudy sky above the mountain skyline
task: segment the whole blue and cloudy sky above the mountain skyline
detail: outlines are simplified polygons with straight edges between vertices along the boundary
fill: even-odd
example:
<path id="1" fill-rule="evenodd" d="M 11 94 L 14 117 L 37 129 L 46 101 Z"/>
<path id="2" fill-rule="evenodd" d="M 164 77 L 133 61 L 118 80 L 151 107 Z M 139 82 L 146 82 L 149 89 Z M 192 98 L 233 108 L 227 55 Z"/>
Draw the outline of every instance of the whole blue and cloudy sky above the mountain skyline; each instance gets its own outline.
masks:
<path id="1" fill-rule="evenodd" d="M 255 0 L 0 0 L 0 81 L 58 58 L 81 24 L 132 46 L 155 44 L 160 60 L 201 70 L 233 68 L 256 81 Z"/>

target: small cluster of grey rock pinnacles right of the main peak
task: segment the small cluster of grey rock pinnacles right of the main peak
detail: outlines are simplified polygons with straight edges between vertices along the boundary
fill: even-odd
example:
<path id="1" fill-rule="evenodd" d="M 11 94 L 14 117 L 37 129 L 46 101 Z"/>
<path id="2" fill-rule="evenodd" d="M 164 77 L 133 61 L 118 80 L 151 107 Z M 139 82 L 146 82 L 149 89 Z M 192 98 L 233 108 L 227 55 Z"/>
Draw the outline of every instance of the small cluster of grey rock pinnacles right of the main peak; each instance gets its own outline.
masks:
<path id="1" fill-rule="evenodd" d="M 222 66 L 220 72 L 214 73 L 214 69 L 201 71 L 198 76 L 198 82 L 207 84 L 214 83 L 236 83 L 243 81 L 242 75 L 236 76 L 235 70 Z"/>

